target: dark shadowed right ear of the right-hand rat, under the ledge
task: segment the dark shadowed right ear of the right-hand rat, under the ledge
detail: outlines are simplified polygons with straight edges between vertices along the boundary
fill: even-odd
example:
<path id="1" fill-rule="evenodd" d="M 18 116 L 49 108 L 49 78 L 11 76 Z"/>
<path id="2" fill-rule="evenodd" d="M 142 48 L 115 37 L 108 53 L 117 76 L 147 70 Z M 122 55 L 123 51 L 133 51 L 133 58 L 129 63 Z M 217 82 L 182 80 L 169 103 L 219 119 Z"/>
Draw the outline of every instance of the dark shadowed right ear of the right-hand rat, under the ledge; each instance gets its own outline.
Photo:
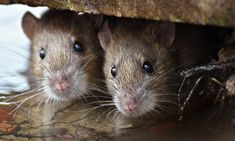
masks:
<path id="1" fill-rule="evenodd" d="M 157 22 L 149 27 L 151 38 L 161 46 L 169 48 L 175 39 L 175 24 L 170 22 Z"/>

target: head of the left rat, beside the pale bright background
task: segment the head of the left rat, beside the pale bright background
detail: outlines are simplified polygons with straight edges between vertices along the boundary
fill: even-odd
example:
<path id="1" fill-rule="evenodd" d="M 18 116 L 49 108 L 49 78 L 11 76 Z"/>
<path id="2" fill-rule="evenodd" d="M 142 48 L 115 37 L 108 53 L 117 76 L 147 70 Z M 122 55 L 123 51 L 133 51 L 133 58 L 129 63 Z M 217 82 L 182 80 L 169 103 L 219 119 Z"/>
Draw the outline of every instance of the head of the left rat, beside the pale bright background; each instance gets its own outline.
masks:
<path id="1" fill-rule="evenodd" d="M 71 100 L 96 85 L 99 42 L 89 16 L 49 10 L 40 19 L 27 12 L 22 27 L 32 44 L 32 69 L 49 100 Z"/>

